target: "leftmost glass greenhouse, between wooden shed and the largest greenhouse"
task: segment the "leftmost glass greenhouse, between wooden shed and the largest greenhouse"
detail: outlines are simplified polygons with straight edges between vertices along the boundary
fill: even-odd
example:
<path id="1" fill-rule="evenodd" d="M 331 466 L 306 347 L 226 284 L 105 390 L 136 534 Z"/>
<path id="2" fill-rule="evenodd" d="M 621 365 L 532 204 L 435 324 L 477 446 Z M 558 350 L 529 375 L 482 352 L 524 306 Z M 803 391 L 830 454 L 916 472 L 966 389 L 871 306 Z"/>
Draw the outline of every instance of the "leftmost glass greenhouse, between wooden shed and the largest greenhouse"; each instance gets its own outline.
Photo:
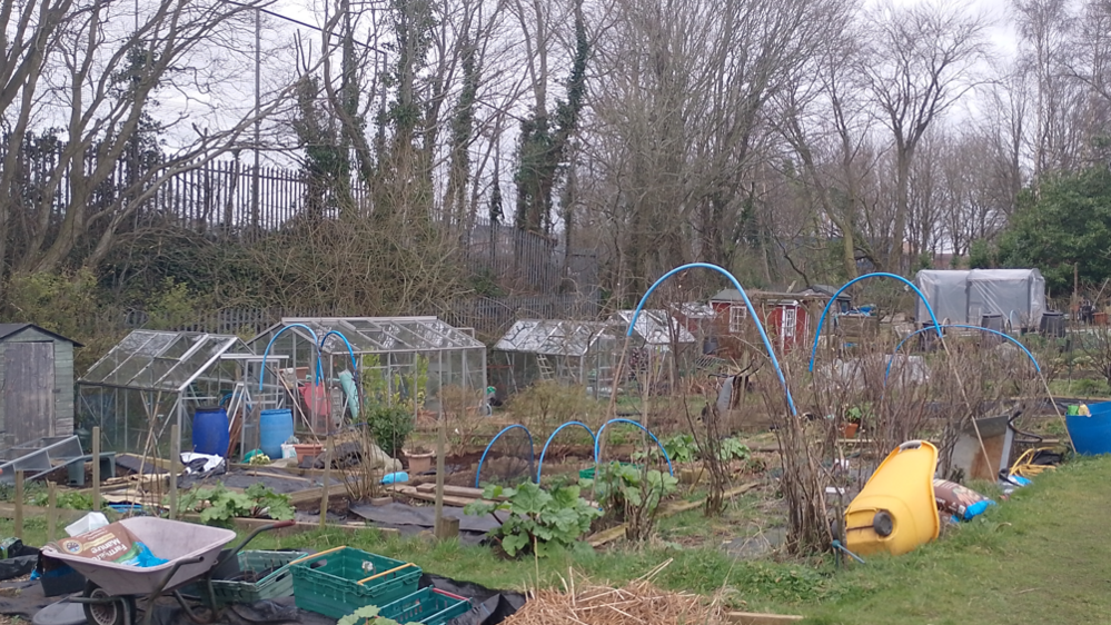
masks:
<path id="1" fill-rule="evenodd" d="M 100 427 L 106 450 L 166 457 L 177 424 L 181 450 L 189 452 L 198 408 L 225 405 L 236 427 L 250 411 L 245 406 L 282 400 L 257 393 L 260 370 L 261 358 L 236 336 L 135 330 L 78 380 L 77 426 Z M 236 431 L 257 437 L 249 424 L 239 423 Z"/>

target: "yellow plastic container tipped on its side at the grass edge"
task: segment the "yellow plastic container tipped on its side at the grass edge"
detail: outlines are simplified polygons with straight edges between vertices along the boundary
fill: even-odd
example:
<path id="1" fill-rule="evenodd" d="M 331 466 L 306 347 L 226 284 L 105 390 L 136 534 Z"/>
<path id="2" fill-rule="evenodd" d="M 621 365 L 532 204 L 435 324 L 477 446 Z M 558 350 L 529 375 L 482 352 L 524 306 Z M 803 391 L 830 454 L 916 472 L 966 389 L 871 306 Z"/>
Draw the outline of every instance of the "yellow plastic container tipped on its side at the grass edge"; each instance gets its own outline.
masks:
<path id="1" fill-rule="evenodd" d="M 845 510 L 845 546 L 869 555 L 901 555 L 938 537 L 933 493 L 938 448 L 910 440 L 884 458 Z"/>

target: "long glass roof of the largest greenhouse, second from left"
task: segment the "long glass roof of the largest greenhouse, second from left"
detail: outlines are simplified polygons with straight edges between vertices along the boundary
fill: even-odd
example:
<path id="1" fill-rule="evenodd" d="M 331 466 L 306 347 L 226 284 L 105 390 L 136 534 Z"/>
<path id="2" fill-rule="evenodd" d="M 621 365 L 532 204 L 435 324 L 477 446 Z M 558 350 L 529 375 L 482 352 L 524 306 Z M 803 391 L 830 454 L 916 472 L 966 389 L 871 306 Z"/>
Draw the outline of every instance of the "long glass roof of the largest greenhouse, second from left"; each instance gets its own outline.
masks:
<path id="1" fill-rule="evenodd" d="M 290 327 L 290 333 L 305 340 L 313 340 L 306 328 L 324 339 L 324 354 L 347 354 L 344 338 L 355 354 L 386 354 L 390 351 L 443 351 L 454 349 L 485 349 L 485 345 L 463 330 L 436 317 L 287 317 L 250 340 L 256 350 L 262 350 L 277 331 Z"/>

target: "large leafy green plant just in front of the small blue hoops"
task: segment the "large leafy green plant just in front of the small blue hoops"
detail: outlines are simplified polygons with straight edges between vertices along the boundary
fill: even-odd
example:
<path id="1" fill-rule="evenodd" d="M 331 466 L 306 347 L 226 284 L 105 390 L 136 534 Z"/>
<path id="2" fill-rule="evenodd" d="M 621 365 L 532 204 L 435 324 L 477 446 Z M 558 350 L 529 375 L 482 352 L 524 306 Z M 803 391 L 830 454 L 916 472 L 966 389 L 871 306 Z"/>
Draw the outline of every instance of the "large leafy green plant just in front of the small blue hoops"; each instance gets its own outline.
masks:
<path id="1" fill-rule="evenodd" d="M 489 485 L 483 492 L 488 502 L 473 502 L 466 514 L 486 516 L 494 512 L 507 512 L 508 518 L 493 532 L 502 548 L 510 557 L 528 552 L 534 546 L 538 557 L 545 557 L 554 546 L 576 547 L 578 538 L 591 530 L 591 523 L 602 516 L 602 512 L 579 497 L 578 486 L 561 486 L 552 492 L 542 489 L 532 482 L 516 488 Z M 493 503 L 504 497 L 505 502 Z"/>

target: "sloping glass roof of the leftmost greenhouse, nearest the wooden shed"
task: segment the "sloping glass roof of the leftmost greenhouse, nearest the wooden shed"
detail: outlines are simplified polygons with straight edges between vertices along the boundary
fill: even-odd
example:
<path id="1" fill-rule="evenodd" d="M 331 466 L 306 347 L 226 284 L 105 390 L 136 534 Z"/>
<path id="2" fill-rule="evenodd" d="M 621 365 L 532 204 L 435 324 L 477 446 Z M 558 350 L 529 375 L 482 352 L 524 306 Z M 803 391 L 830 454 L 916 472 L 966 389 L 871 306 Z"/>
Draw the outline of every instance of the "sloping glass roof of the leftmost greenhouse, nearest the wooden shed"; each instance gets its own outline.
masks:
<path id="1" fill-rule="evenodd" d="M 135 330 L 78 381 L 177 393 L 228 353 L 249 354 L 249 350 L 232 335 Z"/>

